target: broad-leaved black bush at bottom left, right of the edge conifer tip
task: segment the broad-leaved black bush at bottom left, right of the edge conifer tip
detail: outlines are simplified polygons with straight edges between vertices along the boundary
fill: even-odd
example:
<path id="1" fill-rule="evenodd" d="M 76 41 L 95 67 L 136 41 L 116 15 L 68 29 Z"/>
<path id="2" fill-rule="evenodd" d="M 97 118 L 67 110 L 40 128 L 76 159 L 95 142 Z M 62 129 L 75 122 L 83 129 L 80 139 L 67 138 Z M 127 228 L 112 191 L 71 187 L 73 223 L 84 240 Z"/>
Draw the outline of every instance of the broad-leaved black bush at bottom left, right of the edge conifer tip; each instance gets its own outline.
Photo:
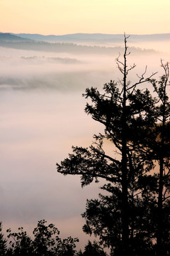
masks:
<path id="1" fill-rule="evenodd" d="M 45 220 L 38 221 L 38 226 L 33 230 L 34 240 L 28 237 L 23 228 L 18 228 L 18 233 L 11 233 L 8 229 L 8 238 L 11 238 L 7 250 L 8 256 L 74 256 L 75 243 L 78 238 L 59 237 L 60 232 L 54 224 L 46 225 Z"/>

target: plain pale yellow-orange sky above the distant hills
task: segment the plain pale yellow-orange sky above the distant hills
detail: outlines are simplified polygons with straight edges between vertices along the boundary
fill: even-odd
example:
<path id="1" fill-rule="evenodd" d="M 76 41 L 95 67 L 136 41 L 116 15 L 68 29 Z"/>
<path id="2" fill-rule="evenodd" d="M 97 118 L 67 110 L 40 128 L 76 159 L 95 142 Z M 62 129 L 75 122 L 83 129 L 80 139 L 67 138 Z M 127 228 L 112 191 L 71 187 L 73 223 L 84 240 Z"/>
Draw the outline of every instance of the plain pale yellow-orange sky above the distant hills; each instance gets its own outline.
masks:
<path id="1" fill-rule="evenodd" d="M 0 0 L 1 32 L 170 32 L 169 0 Z"/>

